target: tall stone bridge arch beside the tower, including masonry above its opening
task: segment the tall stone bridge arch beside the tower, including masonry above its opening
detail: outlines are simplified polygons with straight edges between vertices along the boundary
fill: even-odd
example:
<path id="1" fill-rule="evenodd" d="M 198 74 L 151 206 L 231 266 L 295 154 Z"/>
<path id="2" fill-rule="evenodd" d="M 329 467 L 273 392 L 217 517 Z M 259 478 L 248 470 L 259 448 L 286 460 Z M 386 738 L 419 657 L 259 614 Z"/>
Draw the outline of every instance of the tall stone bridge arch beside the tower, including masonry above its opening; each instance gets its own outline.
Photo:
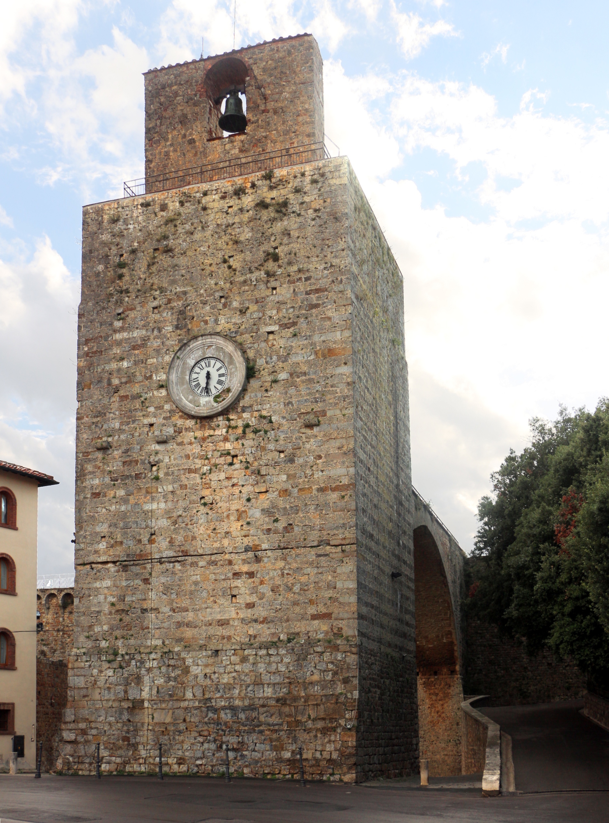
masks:
<path id="1" fill-rule="evenodd" d="M 414 560 L 419 748 L 431 776 L 461 774 L 464 554 L 415 493 Z"/>

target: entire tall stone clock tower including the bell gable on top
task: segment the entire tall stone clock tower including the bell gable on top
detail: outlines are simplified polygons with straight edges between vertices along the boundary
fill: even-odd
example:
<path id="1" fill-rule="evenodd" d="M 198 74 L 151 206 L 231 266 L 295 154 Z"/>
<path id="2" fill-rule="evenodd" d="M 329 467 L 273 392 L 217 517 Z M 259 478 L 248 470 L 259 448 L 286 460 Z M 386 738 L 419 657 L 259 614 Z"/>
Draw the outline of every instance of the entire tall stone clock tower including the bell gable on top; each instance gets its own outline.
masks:
<path id="1" fill-rule="evenodd" d="M 83 212 L 58 768 L 100 742 L 102 770 L 156 770 L 162 743 L 181 774 L 226 746 L 257 776 L 299 747 L 309 779 L 410 774 L 402 276 L 323 148 L 318 45 L 145 80 L 146 179 Z"/>

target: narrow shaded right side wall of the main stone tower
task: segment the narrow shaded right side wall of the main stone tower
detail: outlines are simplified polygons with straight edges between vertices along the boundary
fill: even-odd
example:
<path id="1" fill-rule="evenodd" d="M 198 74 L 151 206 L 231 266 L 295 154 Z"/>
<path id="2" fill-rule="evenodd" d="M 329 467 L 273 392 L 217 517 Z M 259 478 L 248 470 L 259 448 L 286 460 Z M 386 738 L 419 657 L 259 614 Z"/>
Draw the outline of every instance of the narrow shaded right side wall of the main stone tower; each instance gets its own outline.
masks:
<path id="1" fill-rule="evenodd" d="M 351 169 L 349 193 L 360 652 L 357 765 L 367 777 L 395 777 L 418 768 L 404 295 L 402 275 Z"/>

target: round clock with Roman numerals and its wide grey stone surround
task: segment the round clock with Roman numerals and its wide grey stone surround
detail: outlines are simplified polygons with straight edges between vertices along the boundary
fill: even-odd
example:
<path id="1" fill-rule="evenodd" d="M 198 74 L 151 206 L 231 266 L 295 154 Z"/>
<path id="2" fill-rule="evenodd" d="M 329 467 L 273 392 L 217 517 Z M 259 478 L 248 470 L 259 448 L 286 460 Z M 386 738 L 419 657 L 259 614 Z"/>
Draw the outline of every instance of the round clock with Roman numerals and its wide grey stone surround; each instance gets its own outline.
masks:
<path id="1" fill-rule="evenodd" d="M 239 346 L 221 334 L 204 334 L 185 342 L 171 358 L 167 390 L 180 411 L 212 417 L 239 398 L 246 374 Z"/>

